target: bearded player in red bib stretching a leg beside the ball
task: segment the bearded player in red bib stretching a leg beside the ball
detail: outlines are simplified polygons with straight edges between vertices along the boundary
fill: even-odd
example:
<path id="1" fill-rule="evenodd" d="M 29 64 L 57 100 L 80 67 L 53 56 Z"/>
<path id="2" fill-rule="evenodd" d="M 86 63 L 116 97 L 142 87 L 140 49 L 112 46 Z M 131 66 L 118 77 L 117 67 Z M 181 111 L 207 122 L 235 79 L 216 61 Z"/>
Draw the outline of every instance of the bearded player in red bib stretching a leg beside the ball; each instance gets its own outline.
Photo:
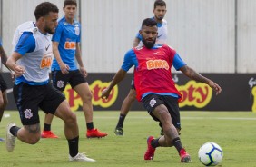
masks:
<path id="1" fill-rule="evenodd" d="M 129 50 L 124 55 L 121 69 L 114 75 L 110 85 L 103 90 L 102 98 L 108 98 L 113 87 L 123 80 L 134 65 L 136 98 L 142 101 L 153 120 L 162 123 L 164 132 L 163 136 L 156 139 L 153 136 L 148 137 L 144 160 L 153 160 L 157 147 L 174 146 L 181 157 L 181 162 L 190 162 L 191 157 L 182 147 L 179 136 L 181 121 L 178 101 L 182 99 L 182 94 L 178 92 L 172 80 L 172 65 L 189 78 L 208 84 L 217 94 L 222 92 L 222 88 L 185 64 L 170 46 L 155 44 L 158 33 L 157 22 L 153 19 L 143 20 L 140 34 L 143 45 Z"/>

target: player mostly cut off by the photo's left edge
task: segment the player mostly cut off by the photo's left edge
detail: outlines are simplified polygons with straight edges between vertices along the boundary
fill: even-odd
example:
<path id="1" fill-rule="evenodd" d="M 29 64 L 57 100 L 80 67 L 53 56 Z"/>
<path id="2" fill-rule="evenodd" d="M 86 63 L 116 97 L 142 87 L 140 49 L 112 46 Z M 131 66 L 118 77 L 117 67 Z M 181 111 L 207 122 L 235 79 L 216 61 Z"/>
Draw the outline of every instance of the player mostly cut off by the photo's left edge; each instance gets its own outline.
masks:
<path id="1" fill-rule="evenodd" d="M 1 63 L 4 64 L 7 69 L 9 69 L 6 66 L 6 61 L 7 61 L 8 57 L 5 54 L 5 50 L 3 48 L 1 38 L 0 38 L 0 56 L 1 56 Z M 11 74 L 12 74 L 12 72 L 11 72 Z M 0 73 L 0 89 L 1 89 L 1 91 L 0 91 L 0 122 L 1 122 L 3 115 L 4 115 L 5 107 L 7 106 L 7 103 L 8 103 L 7 93 L 6 93 L 7 84 L 5 83 L 5 80 L 1 73 Z M 4 141 L 4 139 L 0 138 L 0 142 L 3 142 L 3 141 Z"/>

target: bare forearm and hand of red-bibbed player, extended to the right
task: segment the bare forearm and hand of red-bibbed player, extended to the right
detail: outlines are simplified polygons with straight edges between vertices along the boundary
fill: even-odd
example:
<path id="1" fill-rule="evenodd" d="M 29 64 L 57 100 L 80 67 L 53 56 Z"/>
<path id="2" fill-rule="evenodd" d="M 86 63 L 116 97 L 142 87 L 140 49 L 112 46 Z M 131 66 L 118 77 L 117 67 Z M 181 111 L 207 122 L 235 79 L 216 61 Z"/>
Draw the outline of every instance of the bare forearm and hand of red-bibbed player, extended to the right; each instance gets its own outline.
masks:
<path id="1" fill-rule="evenodd" d="M 216 94 L 219 94 L 222 92 L 222 88 L 217 83 L 214 83 L 212 80 L 202 76 L 202 74 L 197 73 L 188 65 L 182 66 L 180 70 L 182 71 L 183 74 L 190 77 L 191 79 L 201 83 L 208 84 L 210 87 L 212 87 L 212 89 L 216 92 Z"/>

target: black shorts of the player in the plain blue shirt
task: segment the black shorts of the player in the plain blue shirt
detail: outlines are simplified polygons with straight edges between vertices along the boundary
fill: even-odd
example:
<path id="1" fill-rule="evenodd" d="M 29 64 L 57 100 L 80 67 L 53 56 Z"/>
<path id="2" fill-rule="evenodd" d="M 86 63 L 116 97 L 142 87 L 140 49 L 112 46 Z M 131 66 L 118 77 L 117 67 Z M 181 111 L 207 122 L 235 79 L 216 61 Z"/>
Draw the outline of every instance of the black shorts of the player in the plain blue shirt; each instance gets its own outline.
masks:
<path id="1" fill-rule="evenodd" d="M 74 88 L 76 85 L 81 83 L 87 83 L 84 75 L 79 70 L 70 71 L 68 74 L 63 74 L 60 70 L 54 70 L 52 72 L 53 85 L 60 91 L 64 91 L 67 83 Z"/>

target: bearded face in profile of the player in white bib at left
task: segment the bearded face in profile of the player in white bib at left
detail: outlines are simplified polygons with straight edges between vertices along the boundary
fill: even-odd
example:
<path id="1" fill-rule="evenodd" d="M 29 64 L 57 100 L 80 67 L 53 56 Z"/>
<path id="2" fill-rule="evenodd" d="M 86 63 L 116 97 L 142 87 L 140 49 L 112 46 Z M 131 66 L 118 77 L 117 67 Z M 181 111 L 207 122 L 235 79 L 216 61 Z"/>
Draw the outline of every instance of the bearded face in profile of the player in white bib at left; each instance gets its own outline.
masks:
<path id="1" fill-rule="evenodd" d="M 44 31 L 49 34 L 54 34 L 55 28 L 58 25 L 58 13 L 50 12 L 44 19 Z"/>

